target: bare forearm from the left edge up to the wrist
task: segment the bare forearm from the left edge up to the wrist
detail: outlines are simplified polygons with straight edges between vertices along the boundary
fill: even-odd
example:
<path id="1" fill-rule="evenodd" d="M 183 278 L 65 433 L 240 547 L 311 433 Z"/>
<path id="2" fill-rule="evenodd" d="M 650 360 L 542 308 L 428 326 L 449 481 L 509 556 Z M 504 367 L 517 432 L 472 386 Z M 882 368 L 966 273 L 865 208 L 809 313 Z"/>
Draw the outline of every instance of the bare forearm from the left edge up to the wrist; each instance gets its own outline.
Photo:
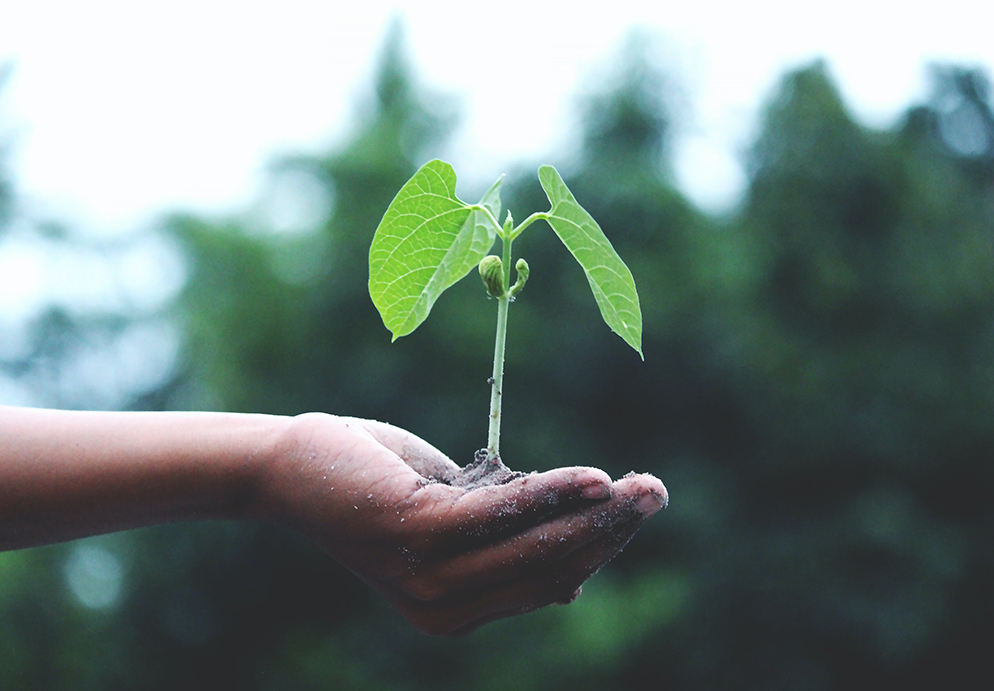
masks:
<path id="1" fill-rule="evenodd" d="M 252 517 L 291 420 L 0 406 L 0 549 Z"/>

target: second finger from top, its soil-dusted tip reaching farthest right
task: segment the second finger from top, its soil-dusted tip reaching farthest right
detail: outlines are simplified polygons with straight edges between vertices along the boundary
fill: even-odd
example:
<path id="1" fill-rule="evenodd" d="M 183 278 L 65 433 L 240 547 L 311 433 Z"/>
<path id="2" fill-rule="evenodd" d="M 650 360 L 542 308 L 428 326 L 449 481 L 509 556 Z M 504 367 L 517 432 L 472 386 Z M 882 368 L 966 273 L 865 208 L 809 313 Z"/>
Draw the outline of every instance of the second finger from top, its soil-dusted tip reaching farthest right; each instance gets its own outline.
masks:
<path id="1" fill-rule="evenodd" d="M 618 525 L 633 520 L 641 525 L 665 504 L 665 498 L 657 494 L 659 488 L 663 492 L 665 488 L 656 483 L 655 478 L 626 478 L 616 483 L 615 496 L 610 500 L 552 518 L 471 552 L 422 564 L 417 579 L 423 585 L 419 585 L 416 595 L 435 599 L 461 588 L 520 578 L 561 561 Z"/>

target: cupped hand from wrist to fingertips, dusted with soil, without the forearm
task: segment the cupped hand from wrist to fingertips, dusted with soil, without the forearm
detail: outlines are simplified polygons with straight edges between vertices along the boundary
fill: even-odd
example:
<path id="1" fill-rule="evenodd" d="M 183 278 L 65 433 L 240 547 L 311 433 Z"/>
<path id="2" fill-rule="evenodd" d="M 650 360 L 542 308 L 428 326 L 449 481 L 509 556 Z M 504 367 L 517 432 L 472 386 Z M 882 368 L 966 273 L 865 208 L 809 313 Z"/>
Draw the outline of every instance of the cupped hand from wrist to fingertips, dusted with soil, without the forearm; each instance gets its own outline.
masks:
<path id="1" fill-rule="evenodd" d="M 583 467 L 466 490 L 445 484 L 455 463 L 396 427 L 308 414 L 291 429 L 266 483 L 276 517 L 426 633 L 572 602 L 667 501 L 651 475 Z"/>

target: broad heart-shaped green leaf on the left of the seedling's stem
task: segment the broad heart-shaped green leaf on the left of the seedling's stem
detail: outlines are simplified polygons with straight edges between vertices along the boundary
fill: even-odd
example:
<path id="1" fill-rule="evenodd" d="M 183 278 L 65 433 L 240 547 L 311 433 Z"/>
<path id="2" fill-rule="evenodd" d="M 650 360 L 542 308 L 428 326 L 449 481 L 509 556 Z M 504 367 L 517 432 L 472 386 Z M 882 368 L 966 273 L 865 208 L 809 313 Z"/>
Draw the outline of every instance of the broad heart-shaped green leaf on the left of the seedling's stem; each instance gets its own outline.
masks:
<path id="1" fill-rule="evenodd" d="M 499 213 L 502 181 L 477 206 Z M 393 340 L 418 328 L 435 300 L 486 256 L 496 234 L 484 212 L 456 197 L 448 163 L 429 161 L 407 181 L 369 248 L 369 295 Z"/>

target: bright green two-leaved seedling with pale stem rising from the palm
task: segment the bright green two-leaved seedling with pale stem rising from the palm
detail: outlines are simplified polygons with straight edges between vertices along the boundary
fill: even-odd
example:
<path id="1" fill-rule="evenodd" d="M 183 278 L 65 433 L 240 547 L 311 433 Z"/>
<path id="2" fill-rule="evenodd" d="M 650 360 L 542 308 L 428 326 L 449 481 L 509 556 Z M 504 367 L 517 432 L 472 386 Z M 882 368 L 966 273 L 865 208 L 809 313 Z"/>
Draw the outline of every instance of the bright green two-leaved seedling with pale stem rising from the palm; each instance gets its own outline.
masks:
<path id="1" fill-rule="evenodd" d="M 479 267 L 487 292 L 497 299 L 488 461 L 500 457 L 508 307 L 528 280 L 528 264 L 518 259 L 514 264 L 516 280 L 511 285 L 511 246 L 535 221 L 552 227 L 583 267 L 604 321 L 642 356 L 642 311 L 631 271 L 555 168 L 542 166 L 538 179 L 552 208 L 534 213 L 518 225 L 508 211 L 501 224 L 497 219 L 503 176 L 479 203 L 467 204 L 456 197 L 452 166 L 429 161 L 390 202 L 369 248 L 369 294 L 393 340 L 418 328 L 435 300 L 473 267 Z M 501 255 L 488 255 L 498 237 Z"/>

